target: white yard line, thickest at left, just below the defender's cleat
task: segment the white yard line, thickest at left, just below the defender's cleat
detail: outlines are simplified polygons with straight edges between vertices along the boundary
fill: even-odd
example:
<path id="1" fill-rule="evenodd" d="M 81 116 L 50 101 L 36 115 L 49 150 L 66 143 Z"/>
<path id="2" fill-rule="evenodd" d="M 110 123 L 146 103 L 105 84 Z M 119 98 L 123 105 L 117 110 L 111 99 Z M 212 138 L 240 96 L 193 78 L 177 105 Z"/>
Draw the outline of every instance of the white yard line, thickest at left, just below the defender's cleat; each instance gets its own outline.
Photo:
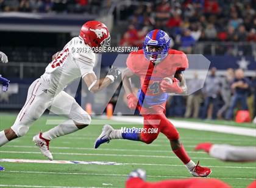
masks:
<path id="1" fill-rule="evenodd" d="M 138 165 L 138 166 L 172 166 L 172 167 L 184 167 L 181 164 L 151 164 L 151 163 L 116 163 L 116 162 L 104 162 L 104 161 L 49 161 L 41 159 L 0 159 L 3 163 L 49 163 L 49 164 L 107 164 L 113 163 L 114 165 L 125 166 L 125 165 Z M 224 169 L 256 169 L 256 167 L 241 167 L 241 166 L 207 166 Z"/>

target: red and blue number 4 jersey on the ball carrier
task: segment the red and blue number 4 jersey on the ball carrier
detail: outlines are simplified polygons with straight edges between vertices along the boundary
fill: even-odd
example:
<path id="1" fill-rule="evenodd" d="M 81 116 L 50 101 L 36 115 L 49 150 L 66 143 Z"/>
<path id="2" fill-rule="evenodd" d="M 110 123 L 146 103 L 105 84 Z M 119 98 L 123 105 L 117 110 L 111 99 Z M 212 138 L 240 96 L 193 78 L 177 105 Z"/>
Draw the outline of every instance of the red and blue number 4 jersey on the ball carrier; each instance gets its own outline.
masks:
<path id="1" fill-rule="evenodd" d="M 168 93 L 163 93 L 160 89 L 160 82 L 166 77 L 174 78 L 177 70 L 187 69 L 188 59 L 185 53 L 169 49 L 168 56 L 158 64 L 154 64 L 144 58 L 143 50 L 138 50 L 129 54 L 126 65 L 140 77 L 141 89 L 138 92 L 140 105 L 149 107 L 168 99 Z"/>

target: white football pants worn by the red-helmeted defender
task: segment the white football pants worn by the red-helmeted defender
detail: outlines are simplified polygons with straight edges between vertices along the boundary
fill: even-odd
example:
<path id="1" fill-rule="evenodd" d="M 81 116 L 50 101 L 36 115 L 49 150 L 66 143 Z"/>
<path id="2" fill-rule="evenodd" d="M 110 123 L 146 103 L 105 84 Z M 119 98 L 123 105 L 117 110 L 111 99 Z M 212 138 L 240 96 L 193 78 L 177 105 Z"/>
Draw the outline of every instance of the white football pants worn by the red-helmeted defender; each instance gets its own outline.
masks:
<path id="1" fill-rule="evenodd" d="M 38 78 L 29 87 L 26 103 L 11 127 L 17 136 L 23 136 L 29 127 L 43 115 L 46 109 L 58 115 L 65 115 L 76 124 L 90 124 L 91 117 L 76 100 L 62 91 L 56 96 L 46 90 L 43 80 Z"/>

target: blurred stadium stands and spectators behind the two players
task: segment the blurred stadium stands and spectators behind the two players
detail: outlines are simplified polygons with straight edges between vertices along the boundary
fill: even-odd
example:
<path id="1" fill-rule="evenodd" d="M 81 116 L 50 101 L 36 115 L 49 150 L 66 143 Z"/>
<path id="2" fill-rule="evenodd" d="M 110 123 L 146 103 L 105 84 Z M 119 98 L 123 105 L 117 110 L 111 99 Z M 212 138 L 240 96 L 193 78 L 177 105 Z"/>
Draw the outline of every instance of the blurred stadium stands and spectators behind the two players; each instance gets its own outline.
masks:
<path id="1" fill-rule="evenodd" d="M 0 51 L 10 61 L 0 65 L 0 73 L 17 84 L 9 96 L 0 93 L 0 109 L 19 109 L 27 87 L 44 72 L 51 55 L 76 36 L 85 21 L 99 19 L 110 28 L 113 46 L 141 48 L 146 33 L 157 28 L 169 34 L 173 49 L 210 59 L 204 88 L 190 96 L 172 96 L 169 116 L 233 119 L 242 109 L 253 118 L 255 7 L 255 0 L 0 0 Z M 200 82 L 199 77 L 191 75 L 189 87 Z"/>

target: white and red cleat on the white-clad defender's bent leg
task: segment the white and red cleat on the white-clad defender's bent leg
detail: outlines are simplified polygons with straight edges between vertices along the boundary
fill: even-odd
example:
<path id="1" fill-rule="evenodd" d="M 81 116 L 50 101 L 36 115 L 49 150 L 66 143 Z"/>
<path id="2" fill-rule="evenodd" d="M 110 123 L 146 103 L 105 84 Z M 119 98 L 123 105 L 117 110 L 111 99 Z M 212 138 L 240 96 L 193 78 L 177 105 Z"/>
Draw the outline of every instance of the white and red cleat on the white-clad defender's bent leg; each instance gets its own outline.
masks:
<path id="1" fill-rule="evenodd" d="M 42 137 L 42 133 L 40 132 L 38 135 L 33 137 L 33 141 L 35 145 L 37 145 L 43 153 L 50 161 L 53 160 L 52 153 L 49 151 L 49 140 Z"/>

